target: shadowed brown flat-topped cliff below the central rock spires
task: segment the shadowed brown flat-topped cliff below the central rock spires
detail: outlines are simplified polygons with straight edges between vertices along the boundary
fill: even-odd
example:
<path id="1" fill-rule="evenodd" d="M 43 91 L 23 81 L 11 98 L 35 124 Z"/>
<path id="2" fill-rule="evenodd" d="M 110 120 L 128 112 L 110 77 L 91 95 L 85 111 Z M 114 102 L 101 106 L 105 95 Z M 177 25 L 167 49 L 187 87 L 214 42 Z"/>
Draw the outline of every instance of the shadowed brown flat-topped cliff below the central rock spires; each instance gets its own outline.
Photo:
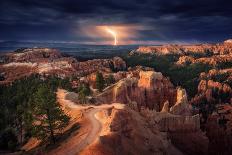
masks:
<path id="1" fill-rule="evenodd" d="M 200 116 L 173 115 L 168 112 L 141 110 L 149 124 L 158 125 L 160 131 L 167 133 L 172 144 L 186 154 L 207 154 L 209 140 L 200 130 Z"/>

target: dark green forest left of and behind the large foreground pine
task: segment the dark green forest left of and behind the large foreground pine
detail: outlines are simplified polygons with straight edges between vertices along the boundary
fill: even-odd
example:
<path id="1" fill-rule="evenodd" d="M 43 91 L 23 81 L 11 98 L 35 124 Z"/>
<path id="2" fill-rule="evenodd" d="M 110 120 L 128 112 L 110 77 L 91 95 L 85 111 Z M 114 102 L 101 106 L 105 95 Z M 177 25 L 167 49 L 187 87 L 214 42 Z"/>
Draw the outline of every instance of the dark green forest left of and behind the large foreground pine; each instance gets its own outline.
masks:
<path id="1" fill-rule="evenodd" d="M 32 135 L 33 109 L 36 106 L 32 100 L 34 93 L 41 84 L 49 86 L 53 92 L 58 87 L 71 88 L 69 80 L 64 81 L 56 77 L 32 75 L 8 86 L 0 85 L 0 133 L 7 128 L 14 128 L 19 137 L 18 144 L 24 143 L 23 139 L 29 139 Z M 0 139 L 0 143 L 2 141 Z"/>

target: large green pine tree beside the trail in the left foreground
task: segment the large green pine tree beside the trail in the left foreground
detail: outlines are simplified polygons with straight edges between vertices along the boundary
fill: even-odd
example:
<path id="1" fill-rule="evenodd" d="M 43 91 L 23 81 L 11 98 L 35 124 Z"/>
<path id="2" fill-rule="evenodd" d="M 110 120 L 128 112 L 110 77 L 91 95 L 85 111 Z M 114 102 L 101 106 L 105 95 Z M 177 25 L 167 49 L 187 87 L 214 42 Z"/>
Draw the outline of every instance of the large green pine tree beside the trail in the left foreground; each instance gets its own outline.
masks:
<path id="1" fill-rule="evenodd" d="M 33 111 L 33 135 L 39 139 L 50 137 L 55 143 L 55 135 L 69 121 L 56 102 L 56 95 L 45 85 L 41 85 L 34 95 L 35 108 Z"/>

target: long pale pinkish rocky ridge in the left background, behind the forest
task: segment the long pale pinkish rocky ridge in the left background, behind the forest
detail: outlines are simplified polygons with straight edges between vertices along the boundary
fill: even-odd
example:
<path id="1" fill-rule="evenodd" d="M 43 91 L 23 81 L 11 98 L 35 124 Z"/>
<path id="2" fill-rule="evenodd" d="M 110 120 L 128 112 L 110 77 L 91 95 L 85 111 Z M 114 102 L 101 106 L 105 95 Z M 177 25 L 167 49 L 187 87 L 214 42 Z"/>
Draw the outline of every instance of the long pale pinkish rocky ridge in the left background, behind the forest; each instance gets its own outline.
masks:
<path id="1" fill-rule="evenodd" d="M 72 57 L 63 57 L 55 49 L 29 48 L 4 55 L 4 61 L 0 64 L 1 83 L 9 83 L 15 79 L 31 74 L 56 75 L 58 77 L 82 77 L 96 71 L 110 73 L 112 71 L 125 70 L 125 62 L 115 57 L 113 59 L 94 59 L 78 62 Z"/>

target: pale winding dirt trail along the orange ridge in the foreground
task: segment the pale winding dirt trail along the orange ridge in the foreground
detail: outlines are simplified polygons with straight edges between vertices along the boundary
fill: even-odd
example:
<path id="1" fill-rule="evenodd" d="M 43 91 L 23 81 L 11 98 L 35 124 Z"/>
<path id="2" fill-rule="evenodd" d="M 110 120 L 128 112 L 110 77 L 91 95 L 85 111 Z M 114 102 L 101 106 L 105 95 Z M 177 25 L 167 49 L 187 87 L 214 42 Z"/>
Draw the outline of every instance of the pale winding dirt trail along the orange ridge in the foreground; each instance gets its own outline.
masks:
<path id="1" fill-rule="evenodd" d="M 81 126 L 82 130 L 78 135 L 74 137 L 70 137 L 69 140 L 62 143 L 57 149 L 51 151 L 49 154 L 56 155 L 76 155 L 79 154 L 83 149 L 87 146 L 95 142 L 99 137 L 99 133 L 102 128 L 102 124 L 95 117 L 95 114 L 101 110 L 106 110 L 108 108 L 118 108 L 123 109 L 124 105 L 119 103 L 114 104 L 104 104 L 99 106 L 82 106 L 73 103 L 70 100 L 66 100 L 65 96 L 68 92 L 63 89 L 58 89 L 57 98 L 58 102 L 62 106 L 62 108 L 68 109 L 71 114 L 76 111 L 83 111 L 84 115 L 82 120 L 87 120 L 88 123 L 83 123 Z M 72 117 L 72 116 L 71 116 Z M 82 137 L 81 137 L 82 135 Z M 81 138 L 80 138 L 81 137 Z"/>

